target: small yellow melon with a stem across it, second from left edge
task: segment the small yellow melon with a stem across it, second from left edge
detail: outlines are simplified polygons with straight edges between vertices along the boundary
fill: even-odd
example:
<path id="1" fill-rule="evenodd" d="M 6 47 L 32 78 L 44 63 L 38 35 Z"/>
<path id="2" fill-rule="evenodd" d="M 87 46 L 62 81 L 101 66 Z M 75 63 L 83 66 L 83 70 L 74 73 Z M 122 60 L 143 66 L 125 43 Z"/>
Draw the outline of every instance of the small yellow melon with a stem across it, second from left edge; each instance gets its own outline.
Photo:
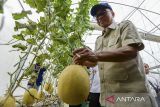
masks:
<path id="1" fill-rule="evenodd" d="M 37 98 L 37 90 L 34 88 L 30 88 L 28 91 L 26 91 L 23 95 L 22 102 L 23 104 L 30 106 L 35 102 L 35 99 Z"/>

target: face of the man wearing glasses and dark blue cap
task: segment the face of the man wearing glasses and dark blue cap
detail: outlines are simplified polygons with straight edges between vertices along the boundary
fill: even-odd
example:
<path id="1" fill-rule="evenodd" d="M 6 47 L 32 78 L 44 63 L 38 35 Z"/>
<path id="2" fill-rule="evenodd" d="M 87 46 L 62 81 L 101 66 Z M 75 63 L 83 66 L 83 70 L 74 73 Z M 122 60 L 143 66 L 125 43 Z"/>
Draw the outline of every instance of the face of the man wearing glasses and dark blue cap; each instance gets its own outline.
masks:
<path id="1" fill-rule="evenodd" d="M 112 23 L 114 12 L 109 9 L 100 9 L 96 12 L 95 17 L 98 25 L 106 28 Z"/>

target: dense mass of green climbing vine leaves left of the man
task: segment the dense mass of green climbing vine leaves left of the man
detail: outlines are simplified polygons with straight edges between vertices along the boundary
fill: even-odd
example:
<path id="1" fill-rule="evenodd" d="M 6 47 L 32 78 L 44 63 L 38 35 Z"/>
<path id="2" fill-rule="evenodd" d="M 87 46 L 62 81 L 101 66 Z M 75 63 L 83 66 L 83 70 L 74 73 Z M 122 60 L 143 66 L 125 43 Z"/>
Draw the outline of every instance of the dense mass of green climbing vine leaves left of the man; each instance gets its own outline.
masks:
<path id="1" fill-rule="evenodd" d="M 89 9 L 97 0 L 81 0 L 76 9 L 71 9 L 72 0 L 24 0 L 37 13 L 43 13 L 38 22 L 27 19 L 20 23 L 18 20 L 31 14 L 29 11 L 14 13 L 15 31 L 20 32 L 13 38 L 20 41 L 13 45 L 20 51 L 27 49 L 27 44 L 33 46 L 29 51 L 35 54 L 31 61 L 41 65 L 49 64 L 48 69 L 56 77 L 64 67 L 72 63 L 72 52 L 83 47 L 83 35 L 91 29 Z M 22 43 L 23 41 L 23 43 Z M 52 66 L 52 67 L 51 67 Z M 54 67 L 53 67 L 54 66 Z"/>

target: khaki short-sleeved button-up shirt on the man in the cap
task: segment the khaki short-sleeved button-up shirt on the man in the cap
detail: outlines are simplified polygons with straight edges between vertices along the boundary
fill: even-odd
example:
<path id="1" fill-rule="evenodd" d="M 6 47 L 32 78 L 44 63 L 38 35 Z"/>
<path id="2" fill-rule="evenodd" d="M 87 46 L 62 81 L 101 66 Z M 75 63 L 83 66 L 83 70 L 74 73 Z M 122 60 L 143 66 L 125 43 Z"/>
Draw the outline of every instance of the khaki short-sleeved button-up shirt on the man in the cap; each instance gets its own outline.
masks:
<path id="1" fill-rule="evenodd" d="M 117 49 L 126 45 L 137 44 L 141 45 L 142 41 L 137 33 L 136 28 L 130 21 L 123 21 L 116 26 L 115 29 L 105 29 L 102 36 L 96 40 L 95 51 L 101 52 L 106 50 Z M 101 104 L 107 107 L 135 107 L 116 104 L 110 106 L 107 104 L 106 97 L 111 93 L 135 93 L 132 96 L 137 96 L 136 93 L 148 93 L 146 84 L 143 63 L 139 54 L 132 60 L 124 62 L 99 62 L 101 83 Z M 147 96 L 148 97 L 148 96 Z M 150 98 L 147 98 L 150 99 Z M 149 100 L 150 101 L 150 100 Z M 142 104 L 136 107 L 155 107 L 151 102 Z M 121 106 L 120 106 L 121 105 Z"/>

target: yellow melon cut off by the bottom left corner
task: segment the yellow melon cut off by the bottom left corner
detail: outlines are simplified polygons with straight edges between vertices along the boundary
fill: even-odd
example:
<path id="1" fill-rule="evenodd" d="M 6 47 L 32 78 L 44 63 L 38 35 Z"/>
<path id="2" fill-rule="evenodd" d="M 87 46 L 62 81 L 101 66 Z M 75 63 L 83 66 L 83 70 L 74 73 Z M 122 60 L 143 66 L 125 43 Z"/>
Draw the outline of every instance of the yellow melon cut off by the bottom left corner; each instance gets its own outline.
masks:
<path id="1" fill-rule="evenodd" d="M 13 96 L 0 98 L 0 107 L 16 107 L 16 100 Z"/>

